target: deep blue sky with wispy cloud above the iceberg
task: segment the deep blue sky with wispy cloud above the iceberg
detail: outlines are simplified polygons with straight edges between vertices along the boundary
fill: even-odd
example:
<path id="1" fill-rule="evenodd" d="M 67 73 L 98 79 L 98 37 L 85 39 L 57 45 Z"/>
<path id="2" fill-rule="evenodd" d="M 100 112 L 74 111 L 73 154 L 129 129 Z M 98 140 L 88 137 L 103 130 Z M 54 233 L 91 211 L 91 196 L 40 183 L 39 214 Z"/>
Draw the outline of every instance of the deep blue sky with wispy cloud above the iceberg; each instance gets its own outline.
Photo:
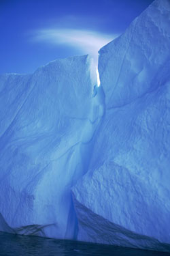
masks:
<path id="1" fill-rule="evenodd" d="M 0 0 L 0 74 L 96 54 L 153 0 Z"/>

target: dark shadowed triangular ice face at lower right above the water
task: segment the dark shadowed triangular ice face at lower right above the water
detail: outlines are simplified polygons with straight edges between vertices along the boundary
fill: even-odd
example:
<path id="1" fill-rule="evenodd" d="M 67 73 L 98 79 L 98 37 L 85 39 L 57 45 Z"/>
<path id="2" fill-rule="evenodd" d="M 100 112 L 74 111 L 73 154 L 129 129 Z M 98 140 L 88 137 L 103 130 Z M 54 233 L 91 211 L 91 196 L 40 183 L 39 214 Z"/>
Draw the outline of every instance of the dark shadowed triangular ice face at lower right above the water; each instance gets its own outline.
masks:
<path id="1" fill-rule="evenodd" d="M 149 236 L 124 229 L 107 219 L 92 212 L 82 205 L 72 192 L 75 212 L 78 216 L 78 240 L 84 242 L 94 242 L 99 244 L 113 244 L 131 248 L 142 248 L 170 252 L 170 245 L 161 243 Z"/>

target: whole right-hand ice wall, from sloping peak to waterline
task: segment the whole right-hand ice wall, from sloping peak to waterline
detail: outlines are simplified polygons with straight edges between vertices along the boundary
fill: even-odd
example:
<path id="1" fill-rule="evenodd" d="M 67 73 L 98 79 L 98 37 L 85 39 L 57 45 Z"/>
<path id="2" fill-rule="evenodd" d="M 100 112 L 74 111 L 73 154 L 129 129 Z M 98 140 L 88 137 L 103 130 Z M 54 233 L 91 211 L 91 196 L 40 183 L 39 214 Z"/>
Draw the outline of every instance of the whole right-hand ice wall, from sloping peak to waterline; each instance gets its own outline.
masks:
<path id="1" fill-rule="evenodd" d="M 88 173 L 73 188 L 80 240 L 170 244 L 169 50 L 170 1 L 163 0 L 99 51 L 105 115 Z"/>

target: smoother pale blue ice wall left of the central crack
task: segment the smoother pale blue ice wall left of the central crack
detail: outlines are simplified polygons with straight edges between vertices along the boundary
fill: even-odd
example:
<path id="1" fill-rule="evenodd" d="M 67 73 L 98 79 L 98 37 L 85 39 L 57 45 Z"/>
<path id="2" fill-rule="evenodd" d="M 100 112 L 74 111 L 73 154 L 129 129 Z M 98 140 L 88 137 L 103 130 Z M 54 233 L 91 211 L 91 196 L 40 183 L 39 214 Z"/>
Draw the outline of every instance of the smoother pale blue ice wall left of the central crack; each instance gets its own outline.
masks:
<path id="1" fill-rule="evenodd" d="M 0 212 L 17 233 L 40 225 L 44 236 L 76 236 L 70 188 L 86 171 L 102 115 L 90 66 L 87 56 L 71 57 L 0 77 Z"/>

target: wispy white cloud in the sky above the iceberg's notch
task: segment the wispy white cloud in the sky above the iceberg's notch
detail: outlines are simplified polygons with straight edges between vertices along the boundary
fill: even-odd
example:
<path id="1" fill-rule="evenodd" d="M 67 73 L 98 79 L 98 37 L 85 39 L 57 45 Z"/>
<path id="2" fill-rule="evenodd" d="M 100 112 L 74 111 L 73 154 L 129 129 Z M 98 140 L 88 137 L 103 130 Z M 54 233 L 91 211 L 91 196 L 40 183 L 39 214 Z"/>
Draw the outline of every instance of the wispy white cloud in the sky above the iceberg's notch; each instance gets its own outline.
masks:
<path id="1" fill-rule="evenodd" d="M 99 49 L 118 37 L 118 34 L 108 35 L 97 31 L 80 29 L 39 29 L 33 31 L 33 42 L 48 42 L 49 44 L 65 44 L 79 49 L 82 54 L 97 55 Z"/>

